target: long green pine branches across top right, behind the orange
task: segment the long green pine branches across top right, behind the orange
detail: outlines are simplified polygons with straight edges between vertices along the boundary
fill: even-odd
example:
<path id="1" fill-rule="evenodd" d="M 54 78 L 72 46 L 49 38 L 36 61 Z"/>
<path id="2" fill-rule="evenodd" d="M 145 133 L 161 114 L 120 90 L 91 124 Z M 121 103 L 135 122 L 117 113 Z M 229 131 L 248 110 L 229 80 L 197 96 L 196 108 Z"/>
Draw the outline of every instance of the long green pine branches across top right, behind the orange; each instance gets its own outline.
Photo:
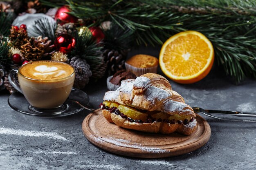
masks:
<path id="1" fill-rule="evenodd" d="M 67 0 L 72 14 L 134 31 L 137 44 L 162 44 L 184 30 L 202 32 L 236 82 L 256 77 L 256 0 Z"/>

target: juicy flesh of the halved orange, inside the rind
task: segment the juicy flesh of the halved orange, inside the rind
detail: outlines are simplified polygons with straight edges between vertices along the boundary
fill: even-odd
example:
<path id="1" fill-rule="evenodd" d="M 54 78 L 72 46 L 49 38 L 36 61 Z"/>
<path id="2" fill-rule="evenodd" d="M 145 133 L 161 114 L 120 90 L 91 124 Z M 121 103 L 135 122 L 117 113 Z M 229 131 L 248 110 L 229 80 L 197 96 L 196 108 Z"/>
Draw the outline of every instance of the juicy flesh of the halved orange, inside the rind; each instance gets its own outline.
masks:
<path id="1" fill-rule="evenodd" d="M 207 64 L 209 55 L 208 44 L 198 35 L 189 34 L 178 37 L 166 46 L 163 62 L 173 75 L 188 76 L 202 70 Z"/>

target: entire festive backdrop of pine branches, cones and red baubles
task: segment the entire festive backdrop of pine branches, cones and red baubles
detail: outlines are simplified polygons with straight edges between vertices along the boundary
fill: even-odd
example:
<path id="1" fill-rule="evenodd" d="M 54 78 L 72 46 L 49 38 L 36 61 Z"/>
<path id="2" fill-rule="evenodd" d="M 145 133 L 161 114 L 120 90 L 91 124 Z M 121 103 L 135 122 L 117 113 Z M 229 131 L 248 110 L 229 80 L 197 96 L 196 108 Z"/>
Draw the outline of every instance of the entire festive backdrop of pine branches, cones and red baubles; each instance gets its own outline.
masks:
<path id="1" fill-rule="evenodd" d="M 84 88 L 89 79 L 97 81 L 124 68 L 128 49 L 162 44 L 185 30 L 200 31 L 211 40 L 216 62 L 236 82 L 255 78 L 255 4 L 255 0 L 1 2 L 0 89 L 13 92 L 9 71 L 34 60 L 75 66 L 75 87 Z M 26 13 L 37 19 L 23 24 Z"/>

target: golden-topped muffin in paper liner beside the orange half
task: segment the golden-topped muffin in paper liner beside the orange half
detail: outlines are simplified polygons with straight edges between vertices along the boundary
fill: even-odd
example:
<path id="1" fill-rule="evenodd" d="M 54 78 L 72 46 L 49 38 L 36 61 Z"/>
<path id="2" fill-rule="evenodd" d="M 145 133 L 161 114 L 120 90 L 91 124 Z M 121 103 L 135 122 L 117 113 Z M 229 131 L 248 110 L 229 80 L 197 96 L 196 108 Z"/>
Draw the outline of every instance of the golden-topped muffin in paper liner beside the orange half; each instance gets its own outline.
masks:
<path id="1" fill-rule="evenodd" d="M 144 54 L 132 56 L 125 62 L 126 69 L 137 76 L 146 73 L 157 73 L 158 59 Z"/>

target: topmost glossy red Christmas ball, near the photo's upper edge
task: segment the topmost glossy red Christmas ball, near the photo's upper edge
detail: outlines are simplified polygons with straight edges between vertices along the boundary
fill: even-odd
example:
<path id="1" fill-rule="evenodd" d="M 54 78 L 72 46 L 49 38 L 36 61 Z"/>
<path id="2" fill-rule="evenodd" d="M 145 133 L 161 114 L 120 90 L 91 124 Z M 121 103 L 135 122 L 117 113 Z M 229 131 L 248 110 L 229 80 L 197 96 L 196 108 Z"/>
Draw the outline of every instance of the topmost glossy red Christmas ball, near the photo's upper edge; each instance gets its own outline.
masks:
<path id="1" fill-rule="evenodd" d="M 67 12 L 71 12 L 70 8 L 67 5 L 60 7 L 55 14 L 55 20 L 60 20 L 61 22 L 59 22 L 59 24 L 61 25 L 68 22 L 77 23 L 78 18 L 76 18 L 73 15 L 70 15 Z"/>

